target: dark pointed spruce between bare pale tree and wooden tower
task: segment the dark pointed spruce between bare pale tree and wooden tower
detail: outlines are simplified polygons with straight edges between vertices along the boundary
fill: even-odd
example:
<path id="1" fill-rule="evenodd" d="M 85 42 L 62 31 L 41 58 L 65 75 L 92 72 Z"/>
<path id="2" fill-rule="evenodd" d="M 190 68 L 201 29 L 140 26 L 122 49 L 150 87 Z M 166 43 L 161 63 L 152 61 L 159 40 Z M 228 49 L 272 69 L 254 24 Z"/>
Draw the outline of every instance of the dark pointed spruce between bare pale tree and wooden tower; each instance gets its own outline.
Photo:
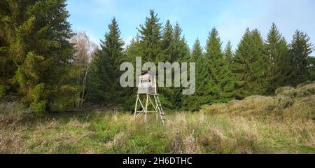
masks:
<path id="1" fill-rule="evenodd" d="M 109 25 L 109 33 L 101 41 L 101 49 L 97 51 L 92 64 L 90 76 L 90 102 L 113 106 L 123 103 L 120 98 L 120 64 L 123 62 L 123 39 L 116 18 Z"/>

